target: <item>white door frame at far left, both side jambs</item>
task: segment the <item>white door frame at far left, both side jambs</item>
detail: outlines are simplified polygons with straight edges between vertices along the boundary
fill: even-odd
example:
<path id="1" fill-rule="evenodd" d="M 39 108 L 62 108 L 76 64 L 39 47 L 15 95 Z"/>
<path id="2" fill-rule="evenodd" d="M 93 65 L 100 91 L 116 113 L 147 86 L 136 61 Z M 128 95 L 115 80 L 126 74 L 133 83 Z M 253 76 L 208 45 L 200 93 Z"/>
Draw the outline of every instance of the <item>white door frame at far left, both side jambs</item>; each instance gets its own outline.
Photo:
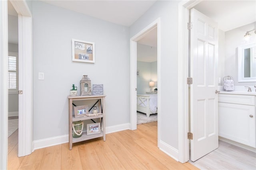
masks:
<path id="1" fill-rule="evenodd" d="M 23 90 L 23 94 L 19 95 L 19 134 L 18 134 L 18 156 L 25 156 L 32 153 L 33 149 L 33 137 L 32 137 L 32 14 L 26 4 L 25 0 L 10 0 L 14 9 L 18 13 L 18 36 L 19 36 L 19 69 L 21 69 L 22 74 L 19 74 L 19 90 Z M 2 24 L 0 35 L 5 33 L 3 40 L 0 43 L 1 56 L 5 56 L 6 61 L 1 65 L 1 84 L 7 85 L 7 56 L 8 56 L 8 8 L 7 1 L 1 1 L 1 21 L 7 22 L 7 24 Z M 4 60 L 4 59 L 1 59 Z M 2 63 L 2 62 L 1 62 Z M 20 72 L 20 70 L 19 70 Z M 1 101 L 4 109 L 3 115 L 4 119 L 0 120 L 1 125 L 1 139 L 6 139 L 8 141 L 8 89 L 7 86 L 1 87 L 1 96 L 3 95 L 4 100 Z M 2 100 L 2 98 L 1 98 Z M 1 107 L 2 108 L 2 107 Z M 2 110 L 1 110 L 2 111 Z M 3 129 L 2 129 L 3 128 Z M 3 138 L 2 138 L 3 137 Z M 4 140 L 5 141 L 5 140 Z M 7 165 L 7 153 L 8 153 L 8 143 L 1 143 L 1 165 L 6 169 Z M 3 157 L 2 157 L 3 156 Z M 3 164 L 2 164 L 3 163 Z"/>

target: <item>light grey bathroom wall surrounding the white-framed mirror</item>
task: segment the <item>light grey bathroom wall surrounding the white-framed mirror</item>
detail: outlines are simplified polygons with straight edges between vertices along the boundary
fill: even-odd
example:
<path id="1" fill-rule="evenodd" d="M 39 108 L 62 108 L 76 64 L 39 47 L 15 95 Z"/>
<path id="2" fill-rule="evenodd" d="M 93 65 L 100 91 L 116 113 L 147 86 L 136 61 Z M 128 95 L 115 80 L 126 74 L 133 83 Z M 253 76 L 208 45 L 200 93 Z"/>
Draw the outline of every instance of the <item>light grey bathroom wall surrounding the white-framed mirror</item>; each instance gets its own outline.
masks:
<path id="1" fill-rule="evenodd" d="M 235 86 L 254 86 L 255 82 L 238 82 L 238 51 L 237 47 L 256 42 L 254 31 L 250 32 L 249 41 L 244 40 L 246 31 L 256 28 L 256 22 L 232 29 L 225 32 L 225 76 L 230 75 L 234 78 Z"/>

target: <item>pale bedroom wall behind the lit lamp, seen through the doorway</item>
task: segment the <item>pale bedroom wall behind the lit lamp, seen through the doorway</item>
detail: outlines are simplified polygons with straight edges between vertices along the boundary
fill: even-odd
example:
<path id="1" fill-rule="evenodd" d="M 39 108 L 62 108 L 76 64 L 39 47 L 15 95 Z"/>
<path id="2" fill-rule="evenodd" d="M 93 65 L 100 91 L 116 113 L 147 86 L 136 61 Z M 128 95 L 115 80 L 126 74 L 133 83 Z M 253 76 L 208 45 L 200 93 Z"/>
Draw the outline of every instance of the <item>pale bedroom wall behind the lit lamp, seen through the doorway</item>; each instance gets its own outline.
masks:
<path id="1" fill-rule="evenodd" d="M 140 70 L 139 76 L 137 76 L 137 94 L 149 92 L 150 81 L 155 82 L 154 88 L 157 87 L 157 61 L 151 63 L 137 61 L 137 70 Z"/>

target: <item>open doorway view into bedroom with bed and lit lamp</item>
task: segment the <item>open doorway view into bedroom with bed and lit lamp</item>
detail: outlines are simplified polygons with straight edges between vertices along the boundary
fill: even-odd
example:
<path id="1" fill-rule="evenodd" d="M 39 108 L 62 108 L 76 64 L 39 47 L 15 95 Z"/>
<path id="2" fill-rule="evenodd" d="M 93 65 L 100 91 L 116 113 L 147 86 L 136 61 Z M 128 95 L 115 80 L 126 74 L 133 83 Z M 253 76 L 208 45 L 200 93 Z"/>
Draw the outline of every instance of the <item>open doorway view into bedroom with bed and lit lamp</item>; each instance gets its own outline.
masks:
<path id="1" fill-rule="evenodd" d="M 157 121 L 157 27 L 137 41 L 137 125 Z"/>

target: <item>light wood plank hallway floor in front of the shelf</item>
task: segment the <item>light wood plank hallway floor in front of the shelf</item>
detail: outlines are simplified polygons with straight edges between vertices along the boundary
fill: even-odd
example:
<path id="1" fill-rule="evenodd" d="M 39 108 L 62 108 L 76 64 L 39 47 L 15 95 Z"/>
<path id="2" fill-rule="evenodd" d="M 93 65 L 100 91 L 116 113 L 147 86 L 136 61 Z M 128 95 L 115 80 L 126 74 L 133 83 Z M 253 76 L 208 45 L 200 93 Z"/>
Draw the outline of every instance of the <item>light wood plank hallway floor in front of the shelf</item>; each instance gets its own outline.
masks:
<path id="1" fill-rule="evenodd" d="M 16 143 L 12 143 L 16 141 Z M 68 143 L 35 150 L 32 154 L 17 157 L 18 131 L 9 137 L 8 169 L 177 169 L 197 170 L 186 162 L 177 162 L 157 147 L 157 122 L 138 125 L 135 131 L 125 130 L 102 138 L 75 143 L 72 150 Z"/>

